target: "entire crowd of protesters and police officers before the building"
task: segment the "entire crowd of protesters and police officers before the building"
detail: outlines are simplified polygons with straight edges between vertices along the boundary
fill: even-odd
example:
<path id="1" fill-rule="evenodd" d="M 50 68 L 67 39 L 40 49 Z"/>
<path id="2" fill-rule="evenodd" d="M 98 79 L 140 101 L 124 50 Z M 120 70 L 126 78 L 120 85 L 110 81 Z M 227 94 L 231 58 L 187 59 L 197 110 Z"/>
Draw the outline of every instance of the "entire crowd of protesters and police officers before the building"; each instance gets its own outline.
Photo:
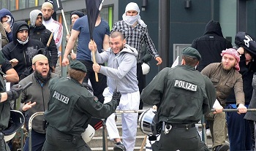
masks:
<path id="1" fill-rule="evenodd" d="M 113 150 L 133 151 L 138 114 L 121 115 L 121 137 L 115 110 L 143 109 L 143 103 L 157 106 L 154 119 L 162 129 L 152 144 L 154 151 L 209 150 L 195 128 L 203 118 L 211 131 L 212 150 L 255 150 L 256 113 L 247 112 L 256 106 L 252 36 L 238 32 L 233 47 L 219 22 L 210 20 L 203 36 L 184 48 L 181 63 L 162 69 L 146 86 L 142 64 L 154 58 L 159 65 L 162 58 L 140 18 L 138 4 L 127 4 L 122 20 L 111 30 L 99 15 L 93 40 L 88 16 L 72 12 L 62 60 L 63 26 L 53 20 L 53 13 L 53 4 L 45 2 L 40 10 L 30 12 L 28 24 L 15 21 L 8 9 L 0 10 L 1 119 L 10 118 L 2 113 L 10 112 L 10 102 L 19 96 L 18 110 L 26 129 L 31 115 L 44 112 L 34 118 L 32 139 L 26 138 L 23 150 L 29 150 L 29 139 L 35 151 L 91 150 L 81 133 L 98 118 L 106 120 Z M 68 66 L 67 77 L 61 77 L 61 65 Z M 10 91 L 6 92 L 5 82 L 12 83 Z M 29 82 L 32 85 L 23 89 Z M 8 121 L 0 121 L 0 134 L 8 127 L 4 122 Z M 225 142 L 227 132 L 230 144 Z M 0 149 L 8 150 L 7 144 Z"/>

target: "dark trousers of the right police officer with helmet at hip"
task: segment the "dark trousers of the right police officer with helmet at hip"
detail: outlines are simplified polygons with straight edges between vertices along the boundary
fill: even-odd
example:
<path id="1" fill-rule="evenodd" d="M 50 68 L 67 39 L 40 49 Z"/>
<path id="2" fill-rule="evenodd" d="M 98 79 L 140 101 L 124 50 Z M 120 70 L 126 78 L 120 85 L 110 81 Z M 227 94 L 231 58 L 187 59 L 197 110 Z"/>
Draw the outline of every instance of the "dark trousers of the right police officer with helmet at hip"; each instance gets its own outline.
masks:
<path id="1" fill-rule="evenodd" d="M 169 133 L 161 132 L 159 141 L 152 144 L 153 151 L 205 151 L 208 150 L 197 132 L 197 129 L 172 128 Z"/>

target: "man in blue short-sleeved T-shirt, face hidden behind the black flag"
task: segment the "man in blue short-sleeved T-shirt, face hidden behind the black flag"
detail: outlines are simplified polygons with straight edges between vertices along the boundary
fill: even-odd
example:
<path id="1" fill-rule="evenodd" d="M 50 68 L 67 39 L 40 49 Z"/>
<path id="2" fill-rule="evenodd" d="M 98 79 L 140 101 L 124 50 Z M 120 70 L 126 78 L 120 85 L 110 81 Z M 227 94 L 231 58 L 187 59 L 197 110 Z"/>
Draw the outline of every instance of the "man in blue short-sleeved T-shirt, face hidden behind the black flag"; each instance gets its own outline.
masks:
<path id="1" fill-rule="evenodd" d="M 98 16 L 95 24 L 93 37 L 94 42 L 97 44 L 99 53 L 102 52 L 102 49 L 107 50 L 109 47 L 109 34 L 110 28 L 108 23 Z M 92 69 L 93 62 L 91 61 L 91 51 L 89 50 L 88 44 L 90 42 L 89 34 L 89 23 L 87 15 L 79 18 L 75 21 L 74 26 L 72 27 L 71 36 L 69 42 L 67 42 L 65 54 L 63 57 L 62 65 L 67 66 L 69 64 L 69 59 L 67 56 L 71 53 L 75 45 L 76 39 L 78 39 L 78 52 L 76 60 L 82 62 L 87 69 L 87 74 L 84 82 L 90 80 L 91 86 L 94 89 L 94 95 L 97 96 L 100 102 L 104 102 L 104 97 L 102 96 L 103 90 L 107 87 L 107 80 L 105 75 L 98 74 L 98 82 L 96 82 L 95 74 Z M 102 63 L 101 65 L 104 65 Z"/>

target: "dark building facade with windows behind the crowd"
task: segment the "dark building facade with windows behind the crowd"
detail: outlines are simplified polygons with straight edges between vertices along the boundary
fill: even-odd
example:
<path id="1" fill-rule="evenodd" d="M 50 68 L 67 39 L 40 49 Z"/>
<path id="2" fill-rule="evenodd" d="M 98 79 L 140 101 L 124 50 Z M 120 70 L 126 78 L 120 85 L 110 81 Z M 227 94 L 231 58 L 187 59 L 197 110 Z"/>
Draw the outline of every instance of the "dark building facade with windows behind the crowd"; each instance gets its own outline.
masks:
<path id="1" fill-rule="evenodd" d="M 15 20 L 29 22 L 29 12 L 40 9 L 45 0 L 1 0 L 0 8 L 7 8 L 12 12 Z M 126 5 L 131 0 L 105 0 L 101 17 L 108 21 L 110 28 L 117 20 L 121 20 Z M 234 44 L 234 38 L 238 31 L 245 31 L 255 36 L 256 0 L 134 0 L 140 7 L 140 16 L 148 26 L 149 34 L 157 50 L 162 55 L 163 65 L 156 66 L 152 59 L 151 71 L 147 75 L 147 82 L 165 66 L 171 66 L 181 50 L 189 46 L 193 39 L 202 36 L 209 20 L 217 20 L 222 26 L 223 36 Z M 162 6 L 161 3 L 166 6 Z M 80 10 L 86 13 L 85 0 L 62 0 L 64 17 L 67 27 L 71 23 L 70 12 Z M 165 8 L 164 8 L 165 7 Z M 165 13 L 162 13 L 165 10 Z M 64 26 L 62 50 L 65 46 L 64 21 L 61 11 L 57 11 L 57 20 Z M 162 18 L 160 21 L 159 19 Z M 162 22 L 165 20 L 165 22 Z M 162 25 L 164 23 L 164 25 Z M 162 26 L 167 25 L 167 32 L 162 33 Z M 159 35 L 159 33 L 161 35 Z M 167 44 L 162 45 L 162 34 L 166 34 Z M 161 39 L 161 42 L 159 42 Z"/>

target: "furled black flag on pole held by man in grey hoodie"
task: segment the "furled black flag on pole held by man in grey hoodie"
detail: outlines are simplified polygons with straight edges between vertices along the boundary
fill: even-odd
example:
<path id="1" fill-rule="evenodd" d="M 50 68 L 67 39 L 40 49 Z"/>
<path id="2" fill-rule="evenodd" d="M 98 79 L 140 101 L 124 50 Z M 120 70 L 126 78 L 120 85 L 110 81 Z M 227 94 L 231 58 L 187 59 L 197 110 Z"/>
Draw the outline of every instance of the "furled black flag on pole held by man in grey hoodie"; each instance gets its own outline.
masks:
<path id="1" fill-rule="evenodd" d="M 104 0 L 86 0 L 86 12 L 89 23 L 90 38 L 93 39 L 93 31 L 96 20 Z"/>

